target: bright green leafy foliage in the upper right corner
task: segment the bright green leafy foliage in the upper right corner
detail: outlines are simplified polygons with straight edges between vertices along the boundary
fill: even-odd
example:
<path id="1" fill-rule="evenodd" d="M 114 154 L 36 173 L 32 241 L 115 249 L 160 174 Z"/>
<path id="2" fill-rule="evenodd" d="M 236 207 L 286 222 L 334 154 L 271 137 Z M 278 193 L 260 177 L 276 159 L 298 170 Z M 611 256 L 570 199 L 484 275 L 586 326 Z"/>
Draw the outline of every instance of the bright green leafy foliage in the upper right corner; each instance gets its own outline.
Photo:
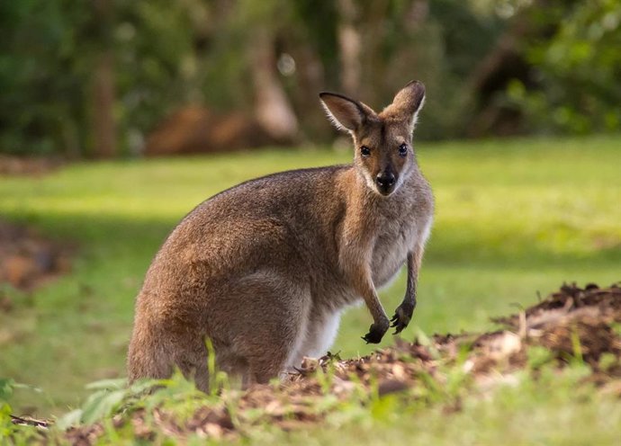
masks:
<path id="1" fill-rule="evenodd" d="M 518 80 L 509 97 L 536 131 L 585 134 L 621 124 L 621 3 L 562 2 L 530 12 L 529 20 L 550 31 L 549 39 L 527 40 L 525 58 L 537 88 Z"/>

